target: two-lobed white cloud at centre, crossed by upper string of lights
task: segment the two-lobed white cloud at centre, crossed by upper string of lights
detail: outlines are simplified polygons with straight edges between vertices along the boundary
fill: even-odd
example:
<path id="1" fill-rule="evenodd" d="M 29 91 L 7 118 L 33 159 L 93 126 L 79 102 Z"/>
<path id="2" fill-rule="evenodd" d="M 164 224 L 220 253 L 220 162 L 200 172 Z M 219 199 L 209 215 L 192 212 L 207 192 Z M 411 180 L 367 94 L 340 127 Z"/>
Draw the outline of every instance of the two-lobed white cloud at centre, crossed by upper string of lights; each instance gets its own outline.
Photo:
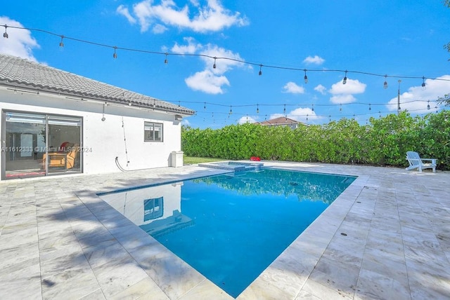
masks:
<path id="1" fill-rule="evenodd" d="M 196 43 L 192 38 L 184 39 L 187 45 L 179 45 L 176 43 L 172 47 L 173 53 L 178 54 L 199 54 L 200 59 L 205 63 L 203 71 L 198 71 L 192 76 L 185 79 L 186 84 L 193 90 L 200 90 L 208 94 L 223 94 L 223 86 L 230 86 L 229 80 L 224 76 L 227 71 L 233 67 L 244 67 L 243 59 L 238 53 L 231 50 L 220 48 L 216 45 L 208 43 L 202 45 Z M 228 57 L 231 60 L 217 59 L 213 68 L 214 59 L 212 57 Z"/>

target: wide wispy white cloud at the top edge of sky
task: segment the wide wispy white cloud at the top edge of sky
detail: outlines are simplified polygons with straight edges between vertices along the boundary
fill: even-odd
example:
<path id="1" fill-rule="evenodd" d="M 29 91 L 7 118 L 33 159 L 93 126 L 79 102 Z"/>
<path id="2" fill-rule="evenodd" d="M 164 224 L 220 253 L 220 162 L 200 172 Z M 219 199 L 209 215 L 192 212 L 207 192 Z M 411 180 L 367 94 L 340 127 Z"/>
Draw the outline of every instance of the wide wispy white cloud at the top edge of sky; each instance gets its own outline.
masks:
<path id="1" fill-rule="evenodd" d="M 248 25 L 248 20 L 241 17 L 239 12 L 229 11 L 218 0 L 207 0 L 204 6 L 199 1 L 190 1 L 191 5 L 185 4 L 181 8 L 172 0 L 161 0 L 158 5 L 153 2 L 143 0 L 133 5 L 141 32 L 146 32 L 153 24 L 191 29 L 194 32 L 217 32 L 226 27 Z M 135 19 L 129 13 L 127 15 L 128 8 L 119 6 L 117 11 L 134 24 Z"/>

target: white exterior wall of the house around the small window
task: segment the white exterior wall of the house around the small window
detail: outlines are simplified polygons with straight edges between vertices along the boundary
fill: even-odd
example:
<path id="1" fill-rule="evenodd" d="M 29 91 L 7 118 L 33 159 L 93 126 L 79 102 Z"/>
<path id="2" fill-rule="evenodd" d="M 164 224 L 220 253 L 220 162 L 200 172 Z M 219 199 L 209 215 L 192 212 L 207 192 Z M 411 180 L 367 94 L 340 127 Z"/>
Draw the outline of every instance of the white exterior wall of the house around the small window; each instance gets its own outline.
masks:
<path id="1" fill-rule="evenodd" d="M 0 88 L 0 109 L 81 117 L 82 172 L 86 174 L 120 172 L 116 157 L 125 170 L 167 167 L 171 152 L 181 150 L 181 125 L 166 112 L 108 104 L 102 121 L 103 102 L 6 88 Z M 144 142 L 146 121 L 163 124 L 162 142 Z"/>

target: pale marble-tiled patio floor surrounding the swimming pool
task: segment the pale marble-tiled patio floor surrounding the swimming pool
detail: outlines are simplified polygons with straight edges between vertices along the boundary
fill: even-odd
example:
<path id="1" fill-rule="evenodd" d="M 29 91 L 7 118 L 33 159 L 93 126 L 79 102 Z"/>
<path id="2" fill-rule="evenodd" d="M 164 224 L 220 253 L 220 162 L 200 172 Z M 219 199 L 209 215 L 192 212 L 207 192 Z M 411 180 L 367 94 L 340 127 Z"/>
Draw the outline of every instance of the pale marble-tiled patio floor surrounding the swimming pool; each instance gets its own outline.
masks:
<path id="1" fill-rule="evenodd" d="M 450 172 L 265 165 L 359 177 L 238 299 L 450 299 Z M 220 172 L 1 182 L 0 299 L 231 299 L 96 196 Z"/>

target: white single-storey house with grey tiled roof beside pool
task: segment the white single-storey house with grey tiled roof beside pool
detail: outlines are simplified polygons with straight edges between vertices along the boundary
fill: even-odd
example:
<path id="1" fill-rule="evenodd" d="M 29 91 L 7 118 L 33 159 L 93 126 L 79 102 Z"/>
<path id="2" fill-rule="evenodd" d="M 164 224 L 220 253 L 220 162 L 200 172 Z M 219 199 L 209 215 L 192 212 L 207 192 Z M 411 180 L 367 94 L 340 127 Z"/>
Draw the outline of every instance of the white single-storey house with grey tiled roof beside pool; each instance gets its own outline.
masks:
<path id="1" fill-rule="evenodd" d="M 10 55 L 0 109 L 1 179 L 178 166 L 180 122 L 194 114 Z"/>

